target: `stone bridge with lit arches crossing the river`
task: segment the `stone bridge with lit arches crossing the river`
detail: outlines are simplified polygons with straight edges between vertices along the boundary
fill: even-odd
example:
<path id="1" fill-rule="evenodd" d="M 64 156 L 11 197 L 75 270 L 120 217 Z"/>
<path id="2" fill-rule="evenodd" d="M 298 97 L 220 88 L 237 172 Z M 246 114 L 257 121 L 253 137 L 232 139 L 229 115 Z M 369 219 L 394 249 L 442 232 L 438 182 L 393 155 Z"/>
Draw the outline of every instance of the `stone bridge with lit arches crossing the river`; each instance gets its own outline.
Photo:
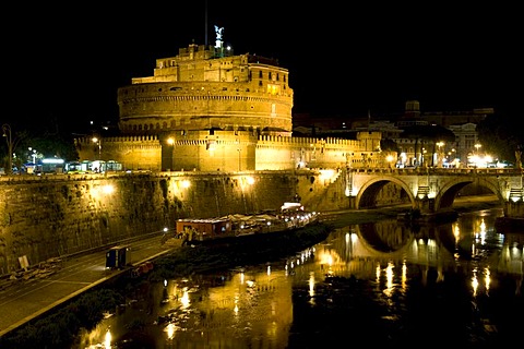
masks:
<path id="1" fill-rule="evenodd" d="M 388 183 L 405 191 L 414 209 L 425 214 L 450 210 L 458 192 L 468 184 L 491 191 L 504 208 L 504 217 L 524 224 L 523 169 L 354 169 L 343 173 L 346 195 L 354 208 L 374 207 L 377 193 Z"/>

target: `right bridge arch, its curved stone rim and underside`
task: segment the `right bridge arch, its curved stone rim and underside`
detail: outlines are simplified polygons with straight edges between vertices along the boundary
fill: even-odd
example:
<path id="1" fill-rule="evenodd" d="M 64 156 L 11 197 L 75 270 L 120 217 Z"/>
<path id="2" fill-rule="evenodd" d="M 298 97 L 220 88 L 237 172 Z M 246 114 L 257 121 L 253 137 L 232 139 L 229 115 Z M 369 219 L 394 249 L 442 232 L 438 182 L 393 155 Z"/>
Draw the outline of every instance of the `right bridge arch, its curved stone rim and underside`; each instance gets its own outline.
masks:
<path id="1" fill-rule="evenodd" d="M 479 178 L 479 179 L 457 178 L 446 182 L 445 185 L 443 185 L 439 190 L 439 192 L 434 197 L 434 208 L 437 210 L 451 208 L 453 206 L 453 202 L 455 201 L 455 197 L 457 196 L 458 192 L 464 186 L 473 183 L 487 188 L 493 194 L 497 195 L 497 198 L 499 200 L 501 205 L 504 204 L 504 198 L 502 196 L 500 188 L 498 188 L 497 183 L 495 183 L 493 181 L 483 179 L 483 178 Z"/>

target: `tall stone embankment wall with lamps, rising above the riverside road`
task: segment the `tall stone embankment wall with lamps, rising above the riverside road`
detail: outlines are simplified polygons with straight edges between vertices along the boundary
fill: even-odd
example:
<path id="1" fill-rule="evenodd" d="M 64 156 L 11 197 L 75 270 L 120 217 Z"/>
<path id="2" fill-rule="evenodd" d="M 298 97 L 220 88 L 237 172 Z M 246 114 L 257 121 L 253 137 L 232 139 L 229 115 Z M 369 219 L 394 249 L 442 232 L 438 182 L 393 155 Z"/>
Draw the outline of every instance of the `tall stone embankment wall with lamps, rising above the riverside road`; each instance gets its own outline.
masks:
<path id="1" fill-rule="evenodd" d="M 12 176 L 0 180 L 0 275 L 51 257 L 172 231 L 178 218 L 347 208 L 340 178 L 313 171 Z M 308 207 L 308 203 L 311 204 Z"/>

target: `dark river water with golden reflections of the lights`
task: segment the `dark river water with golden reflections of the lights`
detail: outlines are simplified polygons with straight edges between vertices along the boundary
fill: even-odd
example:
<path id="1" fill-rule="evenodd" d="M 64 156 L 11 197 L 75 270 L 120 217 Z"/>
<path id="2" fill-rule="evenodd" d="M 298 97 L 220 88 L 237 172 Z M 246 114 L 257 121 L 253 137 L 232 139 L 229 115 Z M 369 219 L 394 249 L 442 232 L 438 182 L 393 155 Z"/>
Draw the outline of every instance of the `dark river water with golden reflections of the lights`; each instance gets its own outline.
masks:
<path id="1" fill-rule="evenodd" d="M 142 282 L 83 334 L 82 348 L 511 342 L 524 325 L 524 231 L 497 233 L 501 214 L 413 229 L 396 220 L 349 226 L 283 261 Z"/>

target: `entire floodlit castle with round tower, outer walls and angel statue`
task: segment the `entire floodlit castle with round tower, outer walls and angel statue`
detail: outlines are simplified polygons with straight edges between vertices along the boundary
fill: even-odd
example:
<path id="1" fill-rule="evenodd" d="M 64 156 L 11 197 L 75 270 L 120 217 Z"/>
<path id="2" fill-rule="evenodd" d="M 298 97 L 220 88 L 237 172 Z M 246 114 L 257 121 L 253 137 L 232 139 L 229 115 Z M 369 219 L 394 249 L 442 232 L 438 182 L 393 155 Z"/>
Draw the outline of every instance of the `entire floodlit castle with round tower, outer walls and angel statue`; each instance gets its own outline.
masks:
<path id="1" fill-rule="evenodd" d="M 356 140 L 294 137 L 289 72 L 277 60 L 189 45 L 153 76 L 118 89 L 119 136 L 75 140 L 80 159 L 130 170 L 257 171 L 378 167 L 380 132 Z"/>

